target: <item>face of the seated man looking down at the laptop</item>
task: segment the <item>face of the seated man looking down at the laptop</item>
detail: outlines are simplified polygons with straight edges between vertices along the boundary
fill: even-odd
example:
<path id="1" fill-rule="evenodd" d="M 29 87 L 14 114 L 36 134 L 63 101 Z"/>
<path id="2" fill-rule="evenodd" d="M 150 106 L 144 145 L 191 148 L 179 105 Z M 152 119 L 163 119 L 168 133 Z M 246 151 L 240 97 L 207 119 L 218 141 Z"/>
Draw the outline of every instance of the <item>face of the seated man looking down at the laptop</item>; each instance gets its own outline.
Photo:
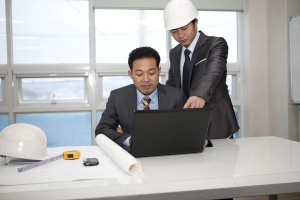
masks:
<path id="1" fill-rule="evenodd" d="M 132 63 L 132 71 L 128 75 L 133 80 L 134 86 L 143 95 L 150 95 L 158 84 L 160 66 L 157 68 L 154 57 L 136 59 Z"/>

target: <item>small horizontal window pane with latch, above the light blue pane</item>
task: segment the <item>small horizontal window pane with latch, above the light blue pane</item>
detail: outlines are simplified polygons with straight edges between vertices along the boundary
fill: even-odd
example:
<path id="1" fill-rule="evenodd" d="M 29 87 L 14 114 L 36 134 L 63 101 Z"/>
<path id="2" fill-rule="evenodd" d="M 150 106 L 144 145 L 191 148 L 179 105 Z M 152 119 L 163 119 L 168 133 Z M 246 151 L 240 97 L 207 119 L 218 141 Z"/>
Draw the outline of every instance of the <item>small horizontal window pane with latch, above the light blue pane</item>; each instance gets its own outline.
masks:
<path id="1" fill-rule="evenodd" d="M 84 99 L 84 77 L 22 78 L 23 100 Z"/>

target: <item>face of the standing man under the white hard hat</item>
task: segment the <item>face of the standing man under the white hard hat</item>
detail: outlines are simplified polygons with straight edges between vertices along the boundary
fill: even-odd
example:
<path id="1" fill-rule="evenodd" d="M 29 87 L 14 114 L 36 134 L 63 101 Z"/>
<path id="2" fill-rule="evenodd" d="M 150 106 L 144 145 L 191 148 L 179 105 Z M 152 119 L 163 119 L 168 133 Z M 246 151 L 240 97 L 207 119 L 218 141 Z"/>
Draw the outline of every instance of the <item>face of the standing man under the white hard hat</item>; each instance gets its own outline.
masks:
<path id="1" fill-rule="evenodd" d="M 190 43 L 196 37 L 197 24 L 198 20 L 196 19 L 194 24 L 192 22 L 189 22 L 183 27 L 172 29 L 170 30 L 171 35 L 177 42 L 188 48 Z"/>

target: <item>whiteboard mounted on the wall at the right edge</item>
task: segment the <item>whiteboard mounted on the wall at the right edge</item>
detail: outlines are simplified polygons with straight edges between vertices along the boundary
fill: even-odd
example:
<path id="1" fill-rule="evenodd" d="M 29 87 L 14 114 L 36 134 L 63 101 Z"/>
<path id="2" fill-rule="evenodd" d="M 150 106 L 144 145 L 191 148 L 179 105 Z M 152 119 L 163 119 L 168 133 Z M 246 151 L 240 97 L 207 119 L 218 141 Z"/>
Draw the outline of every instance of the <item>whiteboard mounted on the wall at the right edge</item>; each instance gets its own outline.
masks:
<path id="1" fill-rule="evenodd" d="M 289 20 L 290 101 L 300 104 L 300 13 Z"/>

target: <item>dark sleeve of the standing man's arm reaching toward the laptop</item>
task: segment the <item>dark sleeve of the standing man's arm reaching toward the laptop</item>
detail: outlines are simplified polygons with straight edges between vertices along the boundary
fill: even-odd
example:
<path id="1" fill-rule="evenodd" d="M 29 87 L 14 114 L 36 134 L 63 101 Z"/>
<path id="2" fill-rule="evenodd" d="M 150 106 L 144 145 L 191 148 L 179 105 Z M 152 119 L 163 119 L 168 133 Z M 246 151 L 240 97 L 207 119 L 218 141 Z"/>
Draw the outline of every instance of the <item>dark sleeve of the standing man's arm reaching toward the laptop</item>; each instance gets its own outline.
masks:
<path id="1" fill-rule="evenodd" d="M 226 69 L 227 55 L 227 42 L 222 37 L 216 37 L 207 59 L 206 72 L 196 82 L 191 96 L 201 96 L 206 102 L 209 101 Z"/>

